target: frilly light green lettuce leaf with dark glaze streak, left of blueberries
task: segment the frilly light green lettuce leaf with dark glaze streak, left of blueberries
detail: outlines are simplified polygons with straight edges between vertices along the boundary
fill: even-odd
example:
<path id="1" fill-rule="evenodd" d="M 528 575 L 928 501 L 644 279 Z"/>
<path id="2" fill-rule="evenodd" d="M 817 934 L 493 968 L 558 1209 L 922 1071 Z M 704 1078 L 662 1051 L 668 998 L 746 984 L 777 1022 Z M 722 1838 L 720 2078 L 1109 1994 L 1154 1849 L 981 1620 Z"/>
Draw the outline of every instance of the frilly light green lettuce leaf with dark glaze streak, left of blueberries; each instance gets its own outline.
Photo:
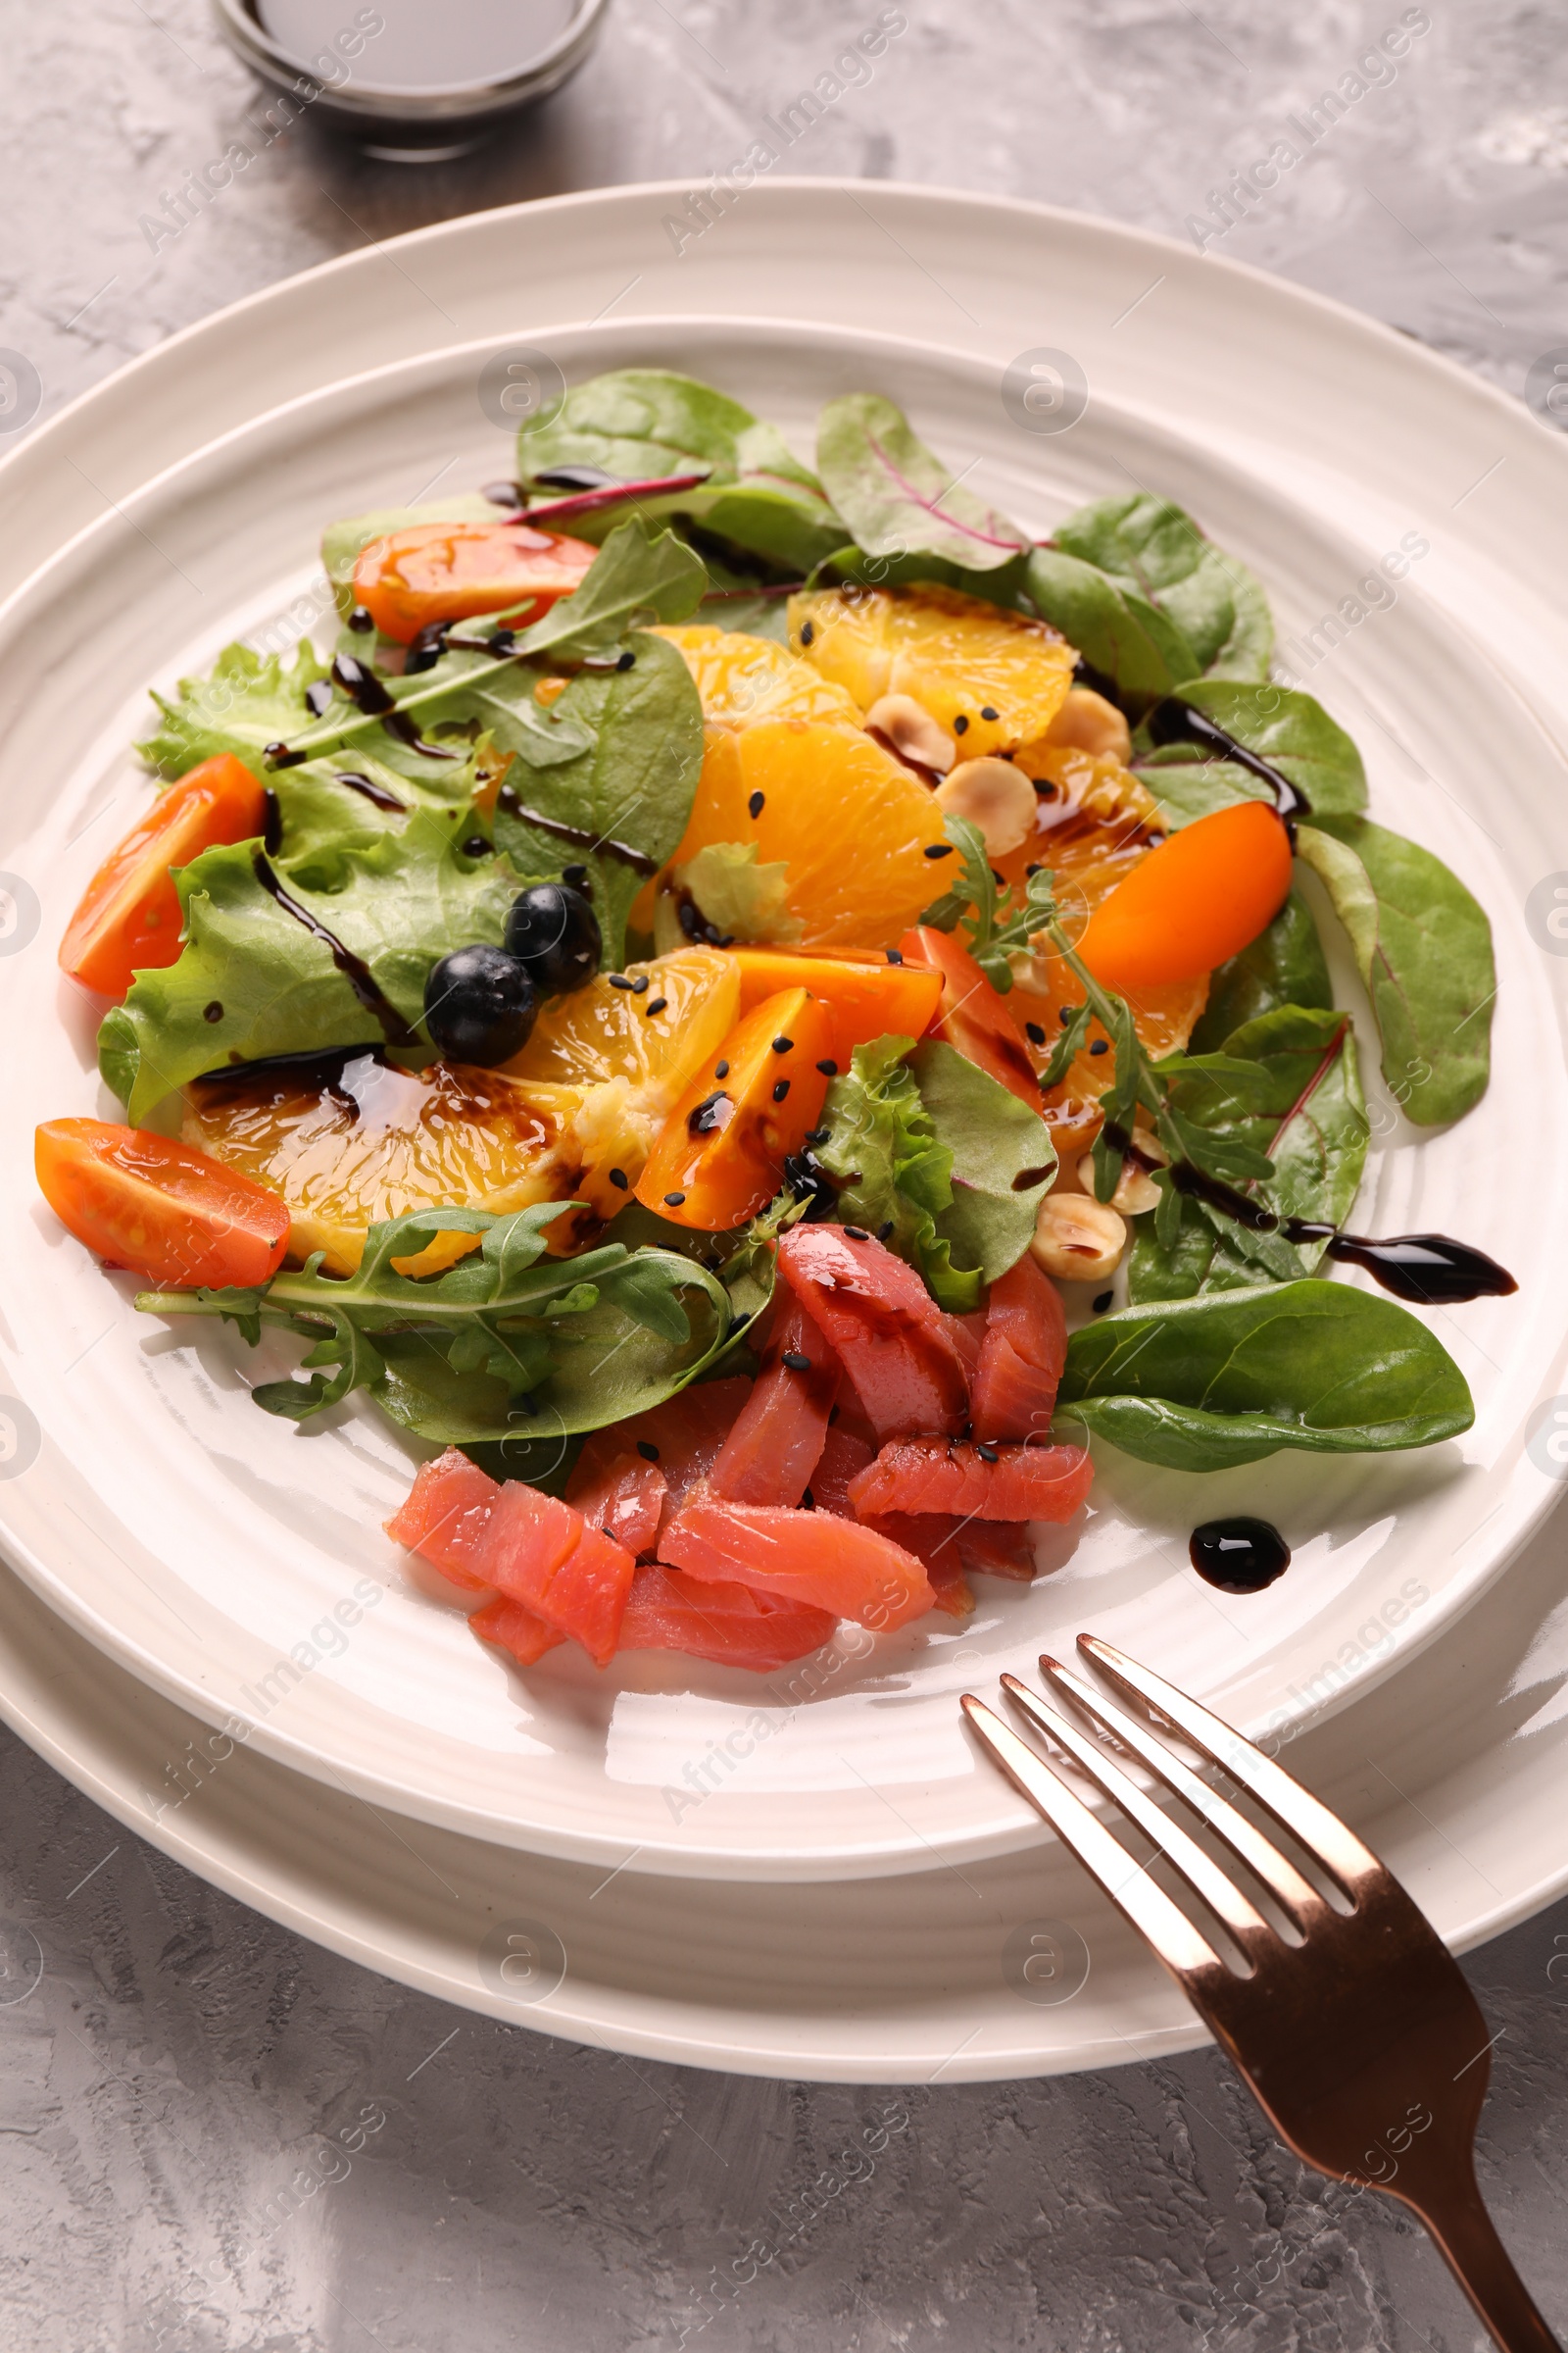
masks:
<path id="1" fill-rule="evenodd" d="M 336 852 L 317 845 L 299 868 L 282 856 L 275 868 L 284 889 L 364 960 L 409 1042 L 423 1038 L 430 965 L 475 941 L 498 946 L 527 880 L 505 856 L 463 854 L 475 826 L 470 805 L 418 807 L 397 833 L 346 835 Z M 277 906 L 254 861 L 254 842 L 233 842 L 181 868 L 179 960 L 141 972 L 125 1005 L 103 1019 L 99 1068 L 132 1125 L 174 1087 L 228 1061 L 386 1042 L 331 948 Z"/>

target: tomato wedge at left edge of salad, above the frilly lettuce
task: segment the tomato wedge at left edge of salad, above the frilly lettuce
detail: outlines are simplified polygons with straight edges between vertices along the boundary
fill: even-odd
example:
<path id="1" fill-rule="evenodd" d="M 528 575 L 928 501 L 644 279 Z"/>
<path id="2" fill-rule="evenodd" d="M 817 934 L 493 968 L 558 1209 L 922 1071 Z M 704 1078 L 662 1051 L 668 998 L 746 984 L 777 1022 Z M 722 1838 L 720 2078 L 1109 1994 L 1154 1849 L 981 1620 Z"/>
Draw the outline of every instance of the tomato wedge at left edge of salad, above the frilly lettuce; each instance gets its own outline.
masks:
<path id="1" fill-rule="evenodd" d="M 266 826 L 266 793 L 242 760 L 219 753 L 188 769 L 99 866 L 59 944 L 61 969 L 85 988 L 122 998 L 139 972 L 179 955 L 172 866 L 219 842 L 249 842 Z"/>

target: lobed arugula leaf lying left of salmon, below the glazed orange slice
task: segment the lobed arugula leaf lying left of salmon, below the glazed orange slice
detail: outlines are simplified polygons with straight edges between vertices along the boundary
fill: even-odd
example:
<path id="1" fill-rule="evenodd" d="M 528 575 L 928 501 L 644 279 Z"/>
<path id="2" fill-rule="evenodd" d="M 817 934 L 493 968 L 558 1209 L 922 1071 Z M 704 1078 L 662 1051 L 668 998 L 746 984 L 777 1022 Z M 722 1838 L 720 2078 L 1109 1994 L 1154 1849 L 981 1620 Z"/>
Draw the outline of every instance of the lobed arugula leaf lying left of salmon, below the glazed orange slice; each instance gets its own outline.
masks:
<path id="1" fill-rule="evenodd" d="M 416 1209 L 369 1228 L 353 1275 L 322 1275 L 313 1259 L 254 1292 L 143 1292 L 136 1306 L 223 1315 L 249 1339 L 261 1325 L 313 1339 L 308 1381 L 252 1391 L 289 1421 L 364 1388 L 393 1421 L 437 1445 L 559 1440 L 646 1412 L 736 1337 L 731 1294 L 696 1257 L 604 1242 L 548 1259 L 545 1228 L 569 1207 Z M 393 1261 L 437 1233 L 484 1240 L 442 1275 L 400 1275 Z"/>

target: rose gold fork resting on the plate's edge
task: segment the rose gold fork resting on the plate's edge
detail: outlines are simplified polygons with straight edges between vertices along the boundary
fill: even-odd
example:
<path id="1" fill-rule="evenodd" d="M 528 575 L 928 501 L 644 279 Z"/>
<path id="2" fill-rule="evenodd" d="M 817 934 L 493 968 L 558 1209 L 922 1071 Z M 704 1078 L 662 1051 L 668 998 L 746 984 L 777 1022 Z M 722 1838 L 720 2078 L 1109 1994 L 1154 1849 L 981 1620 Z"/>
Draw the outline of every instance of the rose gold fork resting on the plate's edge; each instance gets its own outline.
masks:
<path id="1" fill-rule="evenodd" d="M 1150 1941 L 1281 2141 L 1321 2174 L 1403 2200 L 1443 2249 L 1502 2353 L 1561 2353 L 1476 2188 L 1474 2137 L 1490 2040 L 1460 1965 L 1399 1880 L 1300 1781 L 1110 1642 L 1079 1635 L 1079 1649 L 1291 1831 L 1342 1889 L 1349 1911 L 1328 1904 L 1246 1814 L 1171 1755 L 1150 1725 L 1056 1659 L 1039 1661 L 1053 1694 L 1072 1701 L 1190 1805 L 1262 1882 L 1302 1941 L 1288 1944 L 1265 1920 L 1229 1873 L 1128 1779 L 1103 1737 L 1084 1734 L 1016 1675 L 1001 1678 L 1009 1699 L 1175 1866 L 1251 1974 L 1215 1953 L 1030 1741 L 964 1692 L 964 1711 L 994 1762 Z"/>

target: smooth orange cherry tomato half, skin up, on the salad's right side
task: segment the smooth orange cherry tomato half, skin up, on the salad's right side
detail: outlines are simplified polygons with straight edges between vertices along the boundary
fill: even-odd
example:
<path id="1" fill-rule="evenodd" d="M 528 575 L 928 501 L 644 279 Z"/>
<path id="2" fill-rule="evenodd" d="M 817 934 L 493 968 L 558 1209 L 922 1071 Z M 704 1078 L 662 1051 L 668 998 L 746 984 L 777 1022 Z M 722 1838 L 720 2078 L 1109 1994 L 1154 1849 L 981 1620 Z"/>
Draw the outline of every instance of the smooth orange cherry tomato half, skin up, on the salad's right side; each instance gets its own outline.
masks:
<path id="1" fill-rule="evenodd" d="M 1267 800 L 1199 816 L 1133 866 L 1088 918 L 1079 955 L 1107 988 L 1197 981 L 1274 920 L 1291 835 Z"/>

